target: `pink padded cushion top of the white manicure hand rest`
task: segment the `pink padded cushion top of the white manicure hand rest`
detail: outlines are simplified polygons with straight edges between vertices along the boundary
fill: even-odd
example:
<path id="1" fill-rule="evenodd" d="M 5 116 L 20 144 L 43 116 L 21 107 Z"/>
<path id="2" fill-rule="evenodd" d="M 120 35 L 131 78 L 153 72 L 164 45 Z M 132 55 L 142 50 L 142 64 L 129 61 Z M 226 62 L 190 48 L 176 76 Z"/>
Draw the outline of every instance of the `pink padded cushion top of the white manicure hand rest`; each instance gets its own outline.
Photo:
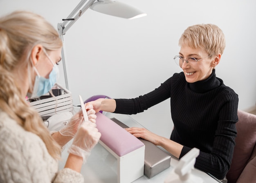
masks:
<path id="1" fill-rule="evenodd" d="M 100 140 L 119 157 L 144 146 L 139 139 L 105 115 L 100 112 L 97 112 L 96 115 L 97 128 L 101 132 Z"/>

